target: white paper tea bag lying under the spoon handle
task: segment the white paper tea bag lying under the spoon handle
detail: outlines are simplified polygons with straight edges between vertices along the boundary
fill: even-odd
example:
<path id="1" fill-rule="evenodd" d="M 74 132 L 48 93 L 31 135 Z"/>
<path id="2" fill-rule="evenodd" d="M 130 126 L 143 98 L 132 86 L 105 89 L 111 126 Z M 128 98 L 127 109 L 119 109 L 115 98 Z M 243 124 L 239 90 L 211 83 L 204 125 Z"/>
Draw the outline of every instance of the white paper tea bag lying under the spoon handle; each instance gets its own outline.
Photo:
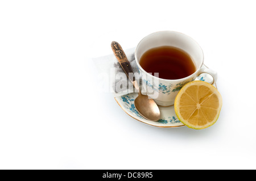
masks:
<path id="1" fill-rule="evenodd" d="M 135 79 L 138 81 L 139 85 L 141 85 L 141 77 L 139 76 L 139 71 L 136 65 L 134 50 L 135 48 L 130 48 L 124 50 L 124 52 L 131 64 Z M 127 75 L 121 68 L 121 65 L 114 54 L 92 59 L 98 68 L 98 74 L 101 75 L 99 77 L 109 78 L 109 81 L 104 81 L 104 83 L 109 83 L 109 91 L 113 92 L 115 97 L 135 92 L 133 84 L 127 78 Z M 108 85 L 105 85 L 105 87 L 108 87 Z"/>

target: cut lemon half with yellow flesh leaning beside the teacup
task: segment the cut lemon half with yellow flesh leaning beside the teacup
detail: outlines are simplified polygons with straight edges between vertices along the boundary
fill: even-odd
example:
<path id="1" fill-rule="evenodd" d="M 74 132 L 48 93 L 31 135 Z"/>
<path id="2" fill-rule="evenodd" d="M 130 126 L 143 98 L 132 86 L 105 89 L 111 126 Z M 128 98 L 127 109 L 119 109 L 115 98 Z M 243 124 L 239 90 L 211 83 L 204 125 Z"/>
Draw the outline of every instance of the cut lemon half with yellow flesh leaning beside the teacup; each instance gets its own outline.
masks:
<path id="1" fill-rule="evenodd" d="M 193 129 L 208 128 L 220 115 L 222 98 L 216 87 L 204 81 L 187 83 L 175 98 L 178 119 Z"/>

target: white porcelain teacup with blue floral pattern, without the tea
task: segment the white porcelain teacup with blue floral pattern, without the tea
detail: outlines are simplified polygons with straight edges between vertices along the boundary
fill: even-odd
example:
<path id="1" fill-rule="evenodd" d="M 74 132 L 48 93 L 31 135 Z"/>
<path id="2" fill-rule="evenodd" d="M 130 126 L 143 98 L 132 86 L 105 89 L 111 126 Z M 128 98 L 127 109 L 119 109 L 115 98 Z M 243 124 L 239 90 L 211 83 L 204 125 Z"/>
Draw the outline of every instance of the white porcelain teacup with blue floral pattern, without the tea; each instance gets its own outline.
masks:
<path id="1" fill-rule="evenodd" d="M 195 73 L 188 77 L 181 79 L 162 79 L 147 73 L 139 64 L 140 58 L 147 50 L 162 47 L 171 46 L 184 50 L 187 52 L 195 66 Z M 217 73 L 212 69 L 202 68 L 204 63 L 203 50 L 191 37 L 175 31 L 159 31 L 151 33 L 144 37 L 135 49 L 135 60 L 138 66 L 139 73 L 142 77 L 142 83 L 146 85 L 146 94 L 153 98 L 159 106 L 171 106 L 174 104 L 175 97 L 181 87 L 186 83 L 196 79 L 202 73 L 208 73 L 212 75 L 214 84 L 217 81 Z"/>

